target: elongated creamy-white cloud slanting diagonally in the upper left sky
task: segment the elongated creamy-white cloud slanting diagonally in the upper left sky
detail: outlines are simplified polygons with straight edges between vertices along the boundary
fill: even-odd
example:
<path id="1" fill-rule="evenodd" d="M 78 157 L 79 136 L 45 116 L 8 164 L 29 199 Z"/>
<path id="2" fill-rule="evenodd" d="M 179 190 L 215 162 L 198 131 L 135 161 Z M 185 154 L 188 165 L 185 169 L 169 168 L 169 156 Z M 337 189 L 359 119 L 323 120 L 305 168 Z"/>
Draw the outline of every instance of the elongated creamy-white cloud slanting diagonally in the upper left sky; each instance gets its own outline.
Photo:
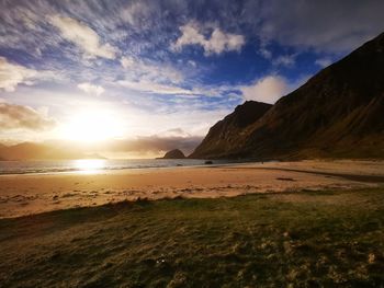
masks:
<path id="1" fill-rule="evenodd" d="M 50 16 L 49 22 L 60 31 L 63 38 L 76 44 L 88 58 L 114 59 L 116 57 L 117 49 L 109 43 L 101 44 L 100 36 L 84 23 L 60 15 Z"/>

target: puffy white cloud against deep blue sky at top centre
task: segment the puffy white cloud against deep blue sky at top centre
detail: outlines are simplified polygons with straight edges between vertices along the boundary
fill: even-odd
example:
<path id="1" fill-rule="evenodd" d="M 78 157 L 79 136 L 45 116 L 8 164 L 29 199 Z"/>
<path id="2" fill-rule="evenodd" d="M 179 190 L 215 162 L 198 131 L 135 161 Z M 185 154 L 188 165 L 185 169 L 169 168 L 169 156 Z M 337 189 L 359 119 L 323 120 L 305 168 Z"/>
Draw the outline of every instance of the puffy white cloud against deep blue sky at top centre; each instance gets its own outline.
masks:
<path id="1" fill-rule="evenodd" d="M 222 54 L 223 51 L 239 51 L 246 44 L 242 35 L 225 33 L 215 27 L 208 37 L 204 35 L 204 27 L 196 22 L 189 22 L 180 26 L 181 36 L 171 45 L 174 50 L 181 50 L 187 45 L 200 45 L 205 55 Z"/>

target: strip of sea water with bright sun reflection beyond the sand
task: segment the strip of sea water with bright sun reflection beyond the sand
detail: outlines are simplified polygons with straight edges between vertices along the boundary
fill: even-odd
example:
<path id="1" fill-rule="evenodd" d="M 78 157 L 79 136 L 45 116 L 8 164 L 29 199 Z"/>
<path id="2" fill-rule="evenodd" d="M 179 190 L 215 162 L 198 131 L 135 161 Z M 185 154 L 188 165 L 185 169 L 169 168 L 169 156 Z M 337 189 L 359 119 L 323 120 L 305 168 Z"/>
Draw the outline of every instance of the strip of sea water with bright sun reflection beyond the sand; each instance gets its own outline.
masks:
<path id="1" fill-rule="evenodd" d="M 204 165 L 205 160 L 195 159 L 79 159 L 53 161 L 0 161 L 0 174 L 98 172 L 123 169 L 172 168 Z M 226 161 L 213 161 L 224 164 Z"/>

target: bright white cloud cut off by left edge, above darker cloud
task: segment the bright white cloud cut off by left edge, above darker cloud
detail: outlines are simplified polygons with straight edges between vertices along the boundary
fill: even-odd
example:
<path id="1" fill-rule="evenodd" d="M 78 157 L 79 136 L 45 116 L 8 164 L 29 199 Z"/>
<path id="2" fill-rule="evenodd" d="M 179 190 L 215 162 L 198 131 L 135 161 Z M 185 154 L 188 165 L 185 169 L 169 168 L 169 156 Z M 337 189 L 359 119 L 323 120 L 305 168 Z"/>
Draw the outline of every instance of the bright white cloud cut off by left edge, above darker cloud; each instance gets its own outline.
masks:
<path id="1" fill-rule="evenodd" d="M 7 58 L 0 57 L 0 89 L 13 92 L 18 84 L 32 84 L 36 77 L 36 70 L 11 64 Z"/>

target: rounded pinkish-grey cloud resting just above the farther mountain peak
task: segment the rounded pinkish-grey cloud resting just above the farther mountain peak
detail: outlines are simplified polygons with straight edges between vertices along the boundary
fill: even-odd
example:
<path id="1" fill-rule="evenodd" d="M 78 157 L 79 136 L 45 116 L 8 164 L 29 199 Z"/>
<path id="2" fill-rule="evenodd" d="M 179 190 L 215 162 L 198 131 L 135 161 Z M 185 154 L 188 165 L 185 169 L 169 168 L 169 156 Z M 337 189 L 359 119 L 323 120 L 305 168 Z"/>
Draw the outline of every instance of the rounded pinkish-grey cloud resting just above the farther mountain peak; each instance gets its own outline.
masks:
<path id="1" fill-rule="evenodd" d="M 264 103 L 275 103 L 290 90 L 287 81 L 280 76 L 268 76 L 257 80 L 251 85 L 240 87 L 246 100 L 255 100 Z"/>

